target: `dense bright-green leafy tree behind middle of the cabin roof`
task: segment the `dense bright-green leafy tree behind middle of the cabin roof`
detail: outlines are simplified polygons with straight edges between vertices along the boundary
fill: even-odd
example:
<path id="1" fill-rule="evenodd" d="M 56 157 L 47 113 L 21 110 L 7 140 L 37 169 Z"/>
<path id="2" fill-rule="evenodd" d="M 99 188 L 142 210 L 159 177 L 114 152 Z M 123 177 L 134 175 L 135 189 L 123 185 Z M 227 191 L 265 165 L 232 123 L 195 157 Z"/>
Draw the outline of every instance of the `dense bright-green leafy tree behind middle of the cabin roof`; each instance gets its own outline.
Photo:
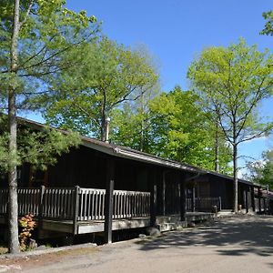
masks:
<path id="1" fill-rule="evenodd" d="M 214 142 L 211 124 L 197 104 L 198 96 L 176 86 L 150 103 L 151 153 L 160 157 L 214 169 Z M 228 147 L 220 142 L 221 172 L 228 171 Z"/>

